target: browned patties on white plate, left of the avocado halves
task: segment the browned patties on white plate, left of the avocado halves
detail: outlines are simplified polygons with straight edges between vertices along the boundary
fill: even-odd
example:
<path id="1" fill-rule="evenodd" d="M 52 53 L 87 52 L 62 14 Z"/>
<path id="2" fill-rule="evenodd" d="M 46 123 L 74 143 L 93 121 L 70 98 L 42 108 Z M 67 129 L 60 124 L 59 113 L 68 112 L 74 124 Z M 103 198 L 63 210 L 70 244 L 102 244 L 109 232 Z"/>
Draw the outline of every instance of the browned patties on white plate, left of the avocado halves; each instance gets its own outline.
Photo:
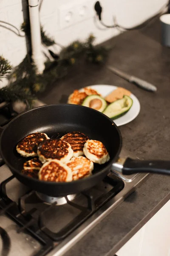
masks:
<path id="1" fill-rule="evenodd" d="M 84 99 L 92 94 L 100 95 L 96 90 L 91 89 L 90 87 L 85 87 L 81 91 L 74 90 L 74 92 L 68 97 L 68 103 L 82 105 Z"/>

